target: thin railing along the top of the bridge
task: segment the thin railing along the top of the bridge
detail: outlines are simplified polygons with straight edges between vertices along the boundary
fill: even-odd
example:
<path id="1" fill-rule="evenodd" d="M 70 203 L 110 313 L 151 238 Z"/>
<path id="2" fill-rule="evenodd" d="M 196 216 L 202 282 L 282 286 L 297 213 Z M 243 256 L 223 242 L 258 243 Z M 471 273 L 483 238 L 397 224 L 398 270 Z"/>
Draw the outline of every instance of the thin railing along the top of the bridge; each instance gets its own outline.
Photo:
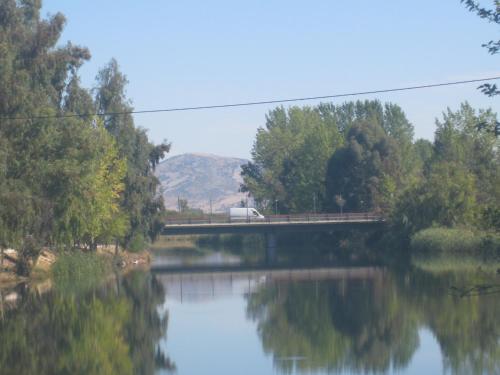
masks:
<path id="1" fill-rule="evenodd" d="M 169 219 L 165 225 L 202 225 L 202 224 L 236 224 L 236 223 L 293 223 L 293 222 L 349 222 L 349 221 L 383 221 L 383 217 L 373 212 L 348 212 L 348 213 L 306 213 L 290 215 L 267 215 L 264 219 L 248 216 L 241 219 L 230 217 L 194 217 L 185 219 Z"/>

